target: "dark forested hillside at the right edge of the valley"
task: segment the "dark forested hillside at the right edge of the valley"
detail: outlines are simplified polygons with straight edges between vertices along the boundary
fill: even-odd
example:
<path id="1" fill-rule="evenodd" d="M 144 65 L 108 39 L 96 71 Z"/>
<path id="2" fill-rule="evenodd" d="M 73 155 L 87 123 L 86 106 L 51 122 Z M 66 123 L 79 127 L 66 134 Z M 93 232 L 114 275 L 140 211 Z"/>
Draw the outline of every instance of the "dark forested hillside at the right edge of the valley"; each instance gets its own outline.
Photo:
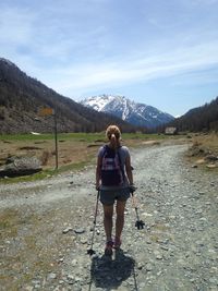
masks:
<path id="1" fill-rule="evenodd" d="M 175 126 L 180 132 L 218 132 L 218 97 L 209 104 L 191 109 L 168 125 Z"/>

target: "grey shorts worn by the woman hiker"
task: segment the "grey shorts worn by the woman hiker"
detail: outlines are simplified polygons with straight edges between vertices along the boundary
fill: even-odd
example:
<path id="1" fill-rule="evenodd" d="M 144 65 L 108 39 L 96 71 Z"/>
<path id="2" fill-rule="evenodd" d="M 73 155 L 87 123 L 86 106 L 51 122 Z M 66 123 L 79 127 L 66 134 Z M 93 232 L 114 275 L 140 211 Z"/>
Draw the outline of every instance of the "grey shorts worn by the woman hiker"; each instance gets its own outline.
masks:
<path id="1" fill-rule="evenodd" d="M 126 201 L 130 197 L 130 189 L 100 190 L 100 202 L 105 205 L 113 205 L 116 201 Z"/>

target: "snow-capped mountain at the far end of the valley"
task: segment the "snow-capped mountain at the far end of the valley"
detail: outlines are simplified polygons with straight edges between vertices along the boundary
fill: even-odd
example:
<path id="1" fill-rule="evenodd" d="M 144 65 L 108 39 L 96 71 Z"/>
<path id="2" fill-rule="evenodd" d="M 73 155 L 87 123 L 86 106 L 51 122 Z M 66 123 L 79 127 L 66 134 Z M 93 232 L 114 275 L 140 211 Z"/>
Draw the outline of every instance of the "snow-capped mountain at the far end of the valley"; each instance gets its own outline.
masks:
<path id="1" fill-rule="evenodd" d="M 131 124 L 149 129 L 174 119 L 153 106 L 136 104 L 120 95 L 93 96 L 82 100 L 81 104 L 97 111 L 117 116 Z"/>

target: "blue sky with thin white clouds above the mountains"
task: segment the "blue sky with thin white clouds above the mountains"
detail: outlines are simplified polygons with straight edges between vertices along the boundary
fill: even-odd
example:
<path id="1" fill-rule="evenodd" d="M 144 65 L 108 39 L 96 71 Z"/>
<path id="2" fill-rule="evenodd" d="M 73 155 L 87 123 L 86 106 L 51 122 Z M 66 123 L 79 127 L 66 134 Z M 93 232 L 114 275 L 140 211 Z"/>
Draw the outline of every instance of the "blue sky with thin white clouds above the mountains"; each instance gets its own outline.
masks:
<path id="1" fill-rule="evenodd" d="M 0 57 L 80 100 L 172 116 L 218 96 L 218 0 L 2 0 Z"/>

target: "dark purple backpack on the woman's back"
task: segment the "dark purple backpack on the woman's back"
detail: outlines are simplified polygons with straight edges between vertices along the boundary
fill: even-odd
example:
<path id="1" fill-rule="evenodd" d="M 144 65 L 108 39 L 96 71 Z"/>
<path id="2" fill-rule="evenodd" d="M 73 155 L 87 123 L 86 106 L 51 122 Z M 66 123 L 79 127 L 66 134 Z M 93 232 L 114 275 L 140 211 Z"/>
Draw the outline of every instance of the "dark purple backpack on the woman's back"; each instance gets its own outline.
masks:
<path id="1" fill-rule="evenodd" d="M 120 155 L 108 145 L 104 146 L 100 178 L 105 186 L 119 186 L 123 183 Z"/>

